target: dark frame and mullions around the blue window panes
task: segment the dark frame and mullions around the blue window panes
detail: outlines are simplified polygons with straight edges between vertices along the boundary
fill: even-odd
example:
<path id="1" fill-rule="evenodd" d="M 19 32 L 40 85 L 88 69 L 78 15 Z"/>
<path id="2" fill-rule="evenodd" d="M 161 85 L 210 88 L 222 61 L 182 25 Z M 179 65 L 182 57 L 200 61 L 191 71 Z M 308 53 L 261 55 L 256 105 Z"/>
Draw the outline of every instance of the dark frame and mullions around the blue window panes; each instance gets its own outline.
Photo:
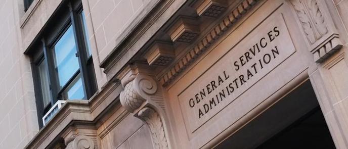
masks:
<path id="1" fill-rule="evenodd" d="M 62 100 L 60 95 L 69 85 L 71 85 L 71 82 L 77 78 L 77 75 L 80 75 L 81 77 L 86 99 L 89 99 L 97 91 L 93 57 L 87 56 L 86 53 L 86 50 L 89 50 L 91 47 L 87 47 L 88 45 L 85 43 L 88 39 L 84 38 L 81 13 L 83 13 L 81 1 L 71 0 L 63 2 L 63 5 L 58 8 L 58 11 L 55 12 L 52 19 L 48 21 L 48 25 L 43 29 L 44 31 L 38 38 L 40 40 L 35 41 L 32 47 L 30 47 L 31 52 L 29 52 L 28 55 L 31 58 L 37 116 L 40 128 L 43 125 L 41 120 L 43 115 L 45 115 L 58 100 Z M 58 74 L 56 73 L 54 64 L 54 46 L 70 25 L 73 28 L 79 69 L 75 72 L 74 76 L 72 76 L 69 81 L 60 88 Z M 47 107 L 44 107 L 43 105 L 42 89 L 38 72 L 38 65 L 42 61 L 46 61 L 47 63 L 46 67 L 50 84 L 49 90 L 52 97 L 50 99 L 51 104 Z"/>

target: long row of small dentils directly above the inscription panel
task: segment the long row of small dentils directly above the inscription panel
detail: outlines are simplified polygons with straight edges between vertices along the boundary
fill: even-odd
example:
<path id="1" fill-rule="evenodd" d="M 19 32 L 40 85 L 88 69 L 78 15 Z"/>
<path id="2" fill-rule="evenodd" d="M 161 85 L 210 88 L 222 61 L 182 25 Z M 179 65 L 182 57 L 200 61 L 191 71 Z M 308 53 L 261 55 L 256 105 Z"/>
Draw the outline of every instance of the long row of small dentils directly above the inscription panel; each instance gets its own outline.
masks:
<path id="1" fill-rule="evenodd" d="M 163 86 L 168 85 L 176 76 L 179 75 L 194 59 L 201 55 L 207 47 L 220 37 L 228 28 L 241 18 L 258 0 L 245 0 L 235 10 L 233 10 L 219 25 L 216 25 L 205 37 L 187 53 L 177 64 L 165 73 L 160 82 Z"/>

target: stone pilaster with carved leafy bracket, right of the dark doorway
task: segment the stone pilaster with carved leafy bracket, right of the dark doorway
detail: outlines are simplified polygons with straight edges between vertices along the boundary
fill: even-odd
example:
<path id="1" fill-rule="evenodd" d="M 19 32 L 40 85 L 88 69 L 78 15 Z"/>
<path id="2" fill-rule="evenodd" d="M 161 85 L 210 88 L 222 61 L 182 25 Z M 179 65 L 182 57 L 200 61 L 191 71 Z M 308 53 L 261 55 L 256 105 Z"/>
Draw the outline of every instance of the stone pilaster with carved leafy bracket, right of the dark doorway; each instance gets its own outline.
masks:
<path id="1" fill-rule="evenodd" d="M 302 36 L 307 39 L 314 63 L 309 76 L 331 136 L 337 148 L 348 148 L 348 63 L 347 48 L 343 46 L 332 20 L 338 17 L 328 10 L 322 0 L 289 1 L 297 16 Z"/>

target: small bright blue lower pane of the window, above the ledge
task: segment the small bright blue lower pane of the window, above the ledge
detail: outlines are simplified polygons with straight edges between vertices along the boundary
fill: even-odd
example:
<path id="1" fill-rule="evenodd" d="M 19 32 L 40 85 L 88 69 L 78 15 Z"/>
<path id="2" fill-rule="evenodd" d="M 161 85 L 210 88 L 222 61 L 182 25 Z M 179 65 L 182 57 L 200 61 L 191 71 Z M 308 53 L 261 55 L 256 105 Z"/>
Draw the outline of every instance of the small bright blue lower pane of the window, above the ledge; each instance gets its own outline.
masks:
<path id="1" fill-rule="evenodd" d="M 83 100 L 85 99 L 84 88 L 81 76 L 78 75 L 64 91 L 66 100 Z"/>

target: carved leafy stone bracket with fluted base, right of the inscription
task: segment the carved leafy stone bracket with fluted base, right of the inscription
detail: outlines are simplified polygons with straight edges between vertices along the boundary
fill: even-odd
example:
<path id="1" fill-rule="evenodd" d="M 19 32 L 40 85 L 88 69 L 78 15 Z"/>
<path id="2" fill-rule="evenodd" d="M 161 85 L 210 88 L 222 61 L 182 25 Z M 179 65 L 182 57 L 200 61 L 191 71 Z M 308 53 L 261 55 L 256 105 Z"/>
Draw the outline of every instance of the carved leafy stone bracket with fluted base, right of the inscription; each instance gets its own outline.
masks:
<path id="1" fill-rule="evenodd" d="M 321 63 L 342 47 L 339 34 L 324 1 L 290 0 L 314 60 Z"/>

